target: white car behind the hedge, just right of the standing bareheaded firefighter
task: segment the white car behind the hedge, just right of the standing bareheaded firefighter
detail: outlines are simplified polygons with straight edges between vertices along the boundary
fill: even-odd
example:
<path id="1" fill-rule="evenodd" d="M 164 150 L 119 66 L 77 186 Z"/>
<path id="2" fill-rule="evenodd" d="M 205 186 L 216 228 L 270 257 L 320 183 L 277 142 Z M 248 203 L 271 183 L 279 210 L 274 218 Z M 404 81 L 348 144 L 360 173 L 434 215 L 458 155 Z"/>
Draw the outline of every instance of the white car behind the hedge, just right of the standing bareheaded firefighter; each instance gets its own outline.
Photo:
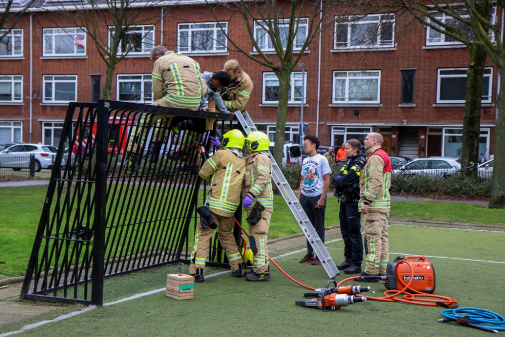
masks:
<path id="1" fill-rule="evenodd" d="M 403 175 L 428 175 L 443 178 L 457 174 L 461 170 L 458 158 L 452 157 L 428 157 L 416 158 L 413 161 L 393 170 L 393 174 Z"/>

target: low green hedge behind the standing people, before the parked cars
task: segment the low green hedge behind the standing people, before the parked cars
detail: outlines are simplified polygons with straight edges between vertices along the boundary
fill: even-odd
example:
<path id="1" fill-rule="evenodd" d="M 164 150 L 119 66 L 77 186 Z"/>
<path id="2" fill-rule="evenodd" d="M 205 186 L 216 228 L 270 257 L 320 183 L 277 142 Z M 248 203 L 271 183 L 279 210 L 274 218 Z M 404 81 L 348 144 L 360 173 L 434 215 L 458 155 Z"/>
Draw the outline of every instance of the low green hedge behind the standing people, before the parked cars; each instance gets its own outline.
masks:
<path id="1" fill-rule="evenodd" d="M 333 180 L 333 176 L 340 171 L 341 166 L 336 164 L 330 166 L 332 172 L 330 179 Z M 301 167 L 298 165 L 283 167 L 282 173 L 291 188 L 297 189 L 301 180 Z M 332 189 L 331 183 L 330 189 Z M 425 175 L 392 175 L 390 192 L 391 194 L 406 193 L 422 197 L 437 194 L 448 197 L 489 198 L 491 195 L 491 181 L 464 175 L 444 179 Z"/>

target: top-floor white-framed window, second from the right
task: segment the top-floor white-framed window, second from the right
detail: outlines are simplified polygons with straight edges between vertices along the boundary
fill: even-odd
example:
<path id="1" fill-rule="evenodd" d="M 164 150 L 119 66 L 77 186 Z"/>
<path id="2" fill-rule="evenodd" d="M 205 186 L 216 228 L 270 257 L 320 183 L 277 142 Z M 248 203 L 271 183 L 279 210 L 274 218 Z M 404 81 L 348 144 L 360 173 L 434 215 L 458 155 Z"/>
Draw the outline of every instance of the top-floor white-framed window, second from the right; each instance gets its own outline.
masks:
<path id="1" fill-rule="evenodd" d="M 394 14 L 335 17 L 333 49 L 386 48 L 394 46 Z"/>

